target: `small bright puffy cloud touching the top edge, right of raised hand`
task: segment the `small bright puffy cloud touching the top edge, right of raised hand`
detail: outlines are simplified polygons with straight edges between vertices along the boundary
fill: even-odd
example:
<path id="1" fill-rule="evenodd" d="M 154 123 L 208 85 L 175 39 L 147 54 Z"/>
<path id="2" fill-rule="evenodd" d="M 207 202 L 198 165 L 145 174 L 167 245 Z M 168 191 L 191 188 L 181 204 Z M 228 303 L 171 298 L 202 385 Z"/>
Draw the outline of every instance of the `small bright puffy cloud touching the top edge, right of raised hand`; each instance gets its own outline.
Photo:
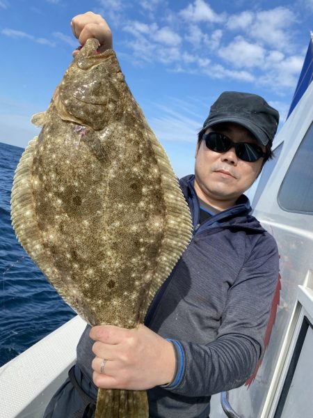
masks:
<path id="1" fill-rule="evenodd" d="M 223 22 L 225 15 L 218 15 L 204 0 L 195 0 L 179 12 L 187 22 Z"/>

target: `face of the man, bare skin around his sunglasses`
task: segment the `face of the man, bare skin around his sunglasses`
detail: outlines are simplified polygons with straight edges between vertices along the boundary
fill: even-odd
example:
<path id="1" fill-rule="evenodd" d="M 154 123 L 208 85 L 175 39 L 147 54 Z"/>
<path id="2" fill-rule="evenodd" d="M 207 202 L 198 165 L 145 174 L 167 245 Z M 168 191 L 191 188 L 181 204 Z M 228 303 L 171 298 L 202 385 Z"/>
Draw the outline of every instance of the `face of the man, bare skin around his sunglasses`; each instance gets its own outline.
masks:
<path id="1" fill-rule="evenodd" d="M 236 123 L 209 127 L 208 132 L 220 132 L 234 142 L 257 144 L 252 134 Z M 265 151 L 265 146 L 261 148 Z M 234 147 L 225 153 L 216 153 L 209 150 L 202 140 L 195 151 L 195 191 L 200 199 L 215 208 L 230 208 L 255 181 L 262 169 L 262 162 L 263 158 L 256 162 L 240 160 Z"/>

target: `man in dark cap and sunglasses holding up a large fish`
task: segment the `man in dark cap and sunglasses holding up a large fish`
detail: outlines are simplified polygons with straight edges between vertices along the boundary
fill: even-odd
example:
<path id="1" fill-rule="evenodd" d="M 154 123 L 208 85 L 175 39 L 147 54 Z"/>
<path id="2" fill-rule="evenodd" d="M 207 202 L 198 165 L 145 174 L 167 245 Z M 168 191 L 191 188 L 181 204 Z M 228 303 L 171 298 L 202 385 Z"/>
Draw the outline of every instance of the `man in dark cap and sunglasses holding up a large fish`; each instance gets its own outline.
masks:
<path id="1" fill-rule="evenodd" d="M 95 37 L 102 51 L 112 46 L 99 15 L 74 17 L 72 30 L 81 45 Z M 180 181 L 193 240 L 154 297 L 145 325 L 86 328 L 77 365 L 45 417 L 91 416 L 101 387 L 147 389 L 150 417 L 207 418 L 212 394 L 252 374 L 264 353 L 278 251 L 248 215 L 243 192 L 271 157 L 278 118 L 257 95 L 225 92 L 216 100 L 198 134 L 195 175 Z"/>

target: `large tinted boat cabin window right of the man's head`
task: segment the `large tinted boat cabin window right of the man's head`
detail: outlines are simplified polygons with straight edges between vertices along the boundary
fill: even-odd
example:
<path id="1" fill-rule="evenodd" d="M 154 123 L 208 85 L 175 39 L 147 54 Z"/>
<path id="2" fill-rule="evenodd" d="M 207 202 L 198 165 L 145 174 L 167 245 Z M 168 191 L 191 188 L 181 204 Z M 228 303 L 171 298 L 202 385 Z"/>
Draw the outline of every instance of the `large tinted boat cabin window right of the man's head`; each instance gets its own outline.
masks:
<path id="1" fill-rule="evenodd" d="M 305 134 L 287 171 L 278 203 L 283 210 L 313 215 L 313 124 Z"/>

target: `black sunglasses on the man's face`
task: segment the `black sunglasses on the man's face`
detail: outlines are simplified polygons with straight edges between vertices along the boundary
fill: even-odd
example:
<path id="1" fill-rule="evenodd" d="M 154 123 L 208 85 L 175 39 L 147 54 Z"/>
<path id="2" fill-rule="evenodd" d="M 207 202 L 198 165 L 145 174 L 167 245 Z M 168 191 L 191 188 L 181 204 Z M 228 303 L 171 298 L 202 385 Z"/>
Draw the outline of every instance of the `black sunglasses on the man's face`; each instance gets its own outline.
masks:
<path id="1" fill-rule="evenodd" d="M 203 134 L 202 139 L 209 150 L 216 153 L 226 153 L 234 146 L 236 156 L 240 160 L 255 162 L 261 157 L 266 157 L 266 153 L 257 144 L 250 144 L 250 142 L 233 142 L 231 139 L 225 137 L 224 134 L 218 132 L 209 132 Z"/>

